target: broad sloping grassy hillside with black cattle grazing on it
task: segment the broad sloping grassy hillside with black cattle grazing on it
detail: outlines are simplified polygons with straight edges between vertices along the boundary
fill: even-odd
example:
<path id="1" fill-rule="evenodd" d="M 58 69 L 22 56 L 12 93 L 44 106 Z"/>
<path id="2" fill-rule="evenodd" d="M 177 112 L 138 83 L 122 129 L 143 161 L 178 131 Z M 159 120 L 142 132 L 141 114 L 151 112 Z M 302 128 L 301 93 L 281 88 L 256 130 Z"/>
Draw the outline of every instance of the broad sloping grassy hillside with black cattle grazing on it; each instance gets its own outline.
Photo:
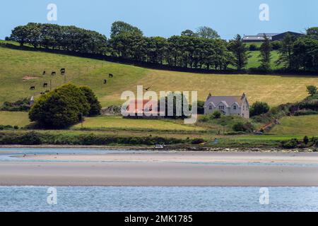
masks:
<path id="1" fill-rule="evenodd" d="M 124 90 L 136 92 L 136 85 L 150 86 L 152 90 L 197 90 L 199 100 L 213 95 L 242 95 L 247 93 L 249 102 L 257 100 L 279 105 L 295 102 L 307 96 L 306 85 L 318 85 L 314 76 L 258 76 L 215 75 L 182 73 L 143 69 L 141 67 L 115 64 L 95 59 L 69 57 L 44 52 L 29 52 L 0 47 L 0 103 L 14 101 L 32 95 L 39 96 L 48 88 L 43 83 L 52 80 L 52 88 L 64 83 L 64 77 L 42 76 L 66 68 L 66 82 L 88 85 L 98 95 L 103 107 L 119 104 Z M 113 73 L 114 78 L 108 78 Z M 31 77 L 32 79 L 23 80 Z M 104 85 L 104 79 L 108 84 Z M 34 91 L 29 90 L 35 85 Z"/>

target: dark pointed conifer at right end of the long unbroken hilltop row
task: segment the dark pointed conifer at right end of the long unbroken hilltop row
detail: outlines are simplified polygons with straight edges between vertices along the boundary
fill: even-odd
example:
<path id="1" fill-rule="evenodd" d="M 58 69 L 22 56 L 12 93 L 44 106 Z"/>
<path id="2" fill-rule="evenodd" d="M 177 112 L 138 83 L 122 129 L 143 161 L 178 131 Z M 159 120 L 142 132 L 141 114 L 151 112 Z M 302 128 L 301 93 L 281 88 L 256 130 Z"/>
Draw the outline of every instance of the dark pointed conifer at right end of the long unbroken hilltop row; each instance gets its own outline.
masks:
<path id="1" fill-rule="evenodd" d="M 235 66 L 237 70 L 242 70 L 247 65 L 249 54 L 246 44 L 243 42 L 241 35 L 236 35 L 234 40 L 230 41 L 229 48 L 235 57 Z"/>

